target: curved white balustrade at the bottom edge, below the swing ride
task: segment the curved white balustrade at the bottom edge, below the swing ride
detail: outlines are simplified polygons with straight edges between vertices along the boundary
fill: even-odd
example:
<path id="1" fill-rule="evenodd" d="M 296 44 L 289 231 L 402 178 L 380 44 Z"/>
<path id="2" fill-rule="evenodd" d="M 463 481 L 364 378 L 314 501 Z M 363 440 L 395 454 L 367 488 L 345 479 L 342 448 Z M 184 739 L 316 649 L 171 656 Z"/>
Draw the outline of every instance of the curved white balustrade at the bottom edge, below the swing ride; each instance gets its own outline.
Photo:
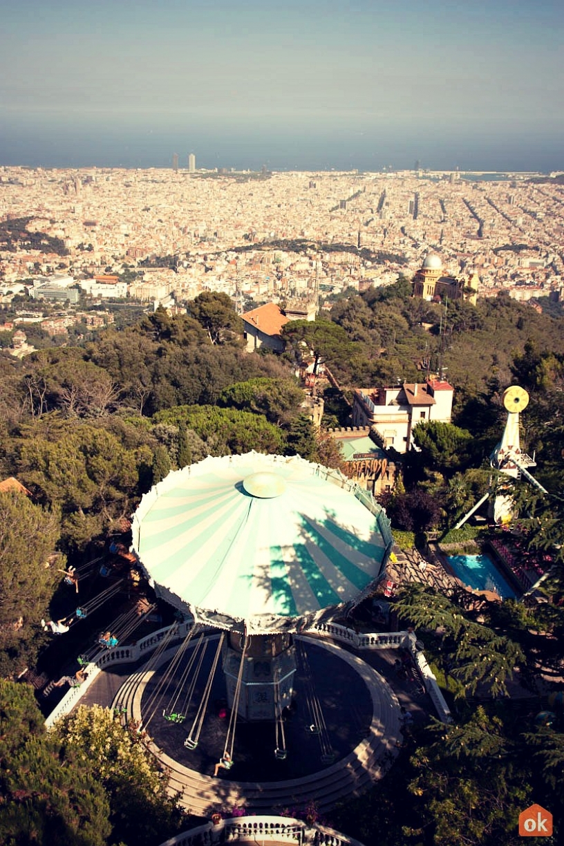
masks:
<path id="1" fill-rule="evenodd" d="M 362 846 L 332 828 L 286 816 L 238 816 L 206 822 L 161 846 L 215 846 L 216 843 L 299 843 L 300 846 Z"/>

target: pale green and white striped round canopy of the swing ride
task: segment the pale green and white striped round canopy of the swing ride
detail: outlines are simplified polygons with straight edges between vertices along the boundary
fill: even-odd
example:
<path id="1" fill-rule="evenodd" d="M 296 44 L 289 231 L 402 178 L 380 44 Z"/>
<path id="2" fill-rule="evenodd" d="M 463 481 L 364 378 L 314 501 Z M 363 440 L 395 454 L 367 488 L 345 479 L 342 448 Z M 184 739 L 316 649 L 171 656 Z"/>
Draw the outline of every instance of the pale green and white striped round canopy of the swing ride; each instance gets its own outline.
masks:
<path id="1" fill-rule="evenodd" d="M 381 577 L 380 509 L 356 490 L 298 456 L 208 457 L 145 494 L 134 552 L 157 593 L 196 618 L 294 629 Z"/>

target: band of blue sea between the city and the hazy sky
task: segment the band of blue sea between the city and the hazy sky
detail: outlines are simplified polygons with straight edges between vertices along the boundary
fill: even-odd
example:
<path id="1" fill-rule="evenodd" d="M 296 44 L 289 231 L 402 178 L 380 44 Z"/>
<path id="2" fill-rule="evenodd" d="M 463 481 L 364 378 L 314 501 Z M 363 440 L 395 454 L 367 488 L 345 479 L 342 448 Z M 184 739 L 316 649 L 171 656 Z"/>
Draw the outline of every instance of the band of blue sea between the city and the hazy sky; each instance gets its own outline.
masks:
<path id="1" fill-rule="evenodd" d="M 359 135 L 347 121 L 337 124 L 241 119 L 171 124 L 151 117 L 98 113 L 52 116 L 18 114 L 0 124 L 0 166 L 45 168 L 171 168 L 178 152 L 185 168 L 194 152 L 198 168 L 350 171 L 413 168 L 430 170 L 542 171 L 561 168 L 561 135 L 529 129 L 485 138 L 458 128 L 445 134 L 432 126 L 379 126 Z M 415 139 L 413 136 L 417 135 Z M 490 177 L 486 174 L 484 179 Z"/>

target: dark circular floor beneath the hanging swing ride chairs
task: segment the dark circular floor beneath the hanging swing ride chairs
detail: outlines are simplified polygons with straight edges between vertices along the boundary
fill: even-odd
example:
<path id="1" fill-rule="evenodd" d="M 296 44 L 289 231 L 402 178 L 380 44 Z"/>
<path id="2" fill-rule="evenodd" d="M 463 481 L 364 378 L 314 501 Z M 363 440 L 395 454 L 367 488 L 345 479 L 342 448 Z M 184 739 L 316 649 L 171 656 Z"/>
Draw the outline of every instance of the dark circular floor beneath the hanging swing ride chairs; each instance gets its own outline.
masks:
<path id="1" fill-rule="evenodd" d="M 228 711 L 226 717 L 226 692 L 221 664 L 213 678 L 210 704 L 198 746 L 195 750 L 189 750 L 184 747 L 184 739 L 194 724 L 196 709 L 210 675 L 217 639 L 218 635 L 211 635 L 207 639 L 209 644 L 205 659 L 188 708 L 183 709 L 181 706 L 185 701 L 184 691 L 188 690 L 194 673 L 187 676 L 182 688 L 178 686 L 178 679 L 188 665 L 190 648 L 175 669 L 166 693 L 156 699 L 154 694 L 163 676 L 166 677 L 175 650 L 169 650 L 162 656 L 161 664 L 154 673 L 145 673 L 135 695 L 134 705 L 134 717 L 143 721 L 144 728 L 164 756 L 204 775 L 213 774 L 214 765 L 222 755 L 227 733 Z M 333 762 L 338 765 L 338 761 L 350 755 L 358 744 L 374 735 L 375 726 L 382 740 L 386 739 L 385 735 L 389 731 L 394 734 L 397 732 L 397 703 L 394 703 L 392 691 L 378 673 L 338 647 L 314 643 L 307 638 L 299 640 L 304 646 L 309 669 L 298 661 L 294 685 L 295 710 L 285 722 L 286 760 L 278 761 L 274 755 L 276 735 L 273 722 L 245 722 L 238 718 L 233 749 L 234 764 L 231 770 L 220 771 L 222 779 L 264 783 L 307 777 L 331 766 Z M 186 720 L 180 724 L 168 722 L 162 716 L 165 707 L 170 710 L 178 690 L 181 693 L 173 710 L 185 711 L 187 715 Z M 311 711 L 315 697 L 321 704 L 326 722 L 326 734 L 321 736 L 312 735 L 306 730 L 311 722 L 315 722 Z M 334 761 L 322 758 L 327 745 L 334 752 Z"/>

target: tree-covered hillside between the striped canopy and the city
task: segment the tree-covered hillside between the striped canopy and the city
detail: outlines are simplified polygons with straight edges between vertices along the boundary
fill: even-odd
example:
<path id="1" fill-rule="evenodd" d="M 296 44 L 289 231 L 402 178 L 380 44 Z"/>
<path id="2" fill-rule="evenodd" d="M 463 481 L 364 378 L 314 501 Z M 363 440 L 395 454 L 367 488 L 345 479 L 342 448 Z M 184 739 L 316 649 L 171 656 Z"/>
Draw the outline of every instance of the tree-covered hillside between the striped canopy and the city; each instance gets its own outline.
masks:
<path id="1" fill-rule="evenodd" d="M 500 396 L 510 382 L 531 394 L 523 443 L 536 451 L 539 479 L 556 491 L 564 318 L 506 298 L 446 309 L 409 293 L 400 281 L 352 294 L 334 305 L 331 319 L 292 321 L 281 357 L 247 354 L 233 307 L 213 294 L 194 300 L 189 315 L 157 310 L 83 346 L 41 349 L 23 360 L 0 354 L 0 475 L 16 476 L 30 490 L 40 509 L 31 524 L 55 526 L 47 534 L 37 529 L 52 538 L 41 554 L 72 555 L 104 536 L 151 484 L 206 454 L 255 448 L 338 465 L 331 439 L 315 433 L 299 408 L 293 369 L 304 342 L 315 360 L 329 363 L 345 395 L 357 385 L 421 380 L 425 362 L 431 371 L 448 367 L 462 440 L 431 433 L 435 441 L 422 440 L 422 452 L 406 467 L 406 485 L 433 519 L 463 508 L 484 486 L 479 467 L 499 438 Z M 348 407 L 338 392 L 327 390 L 326 399 L 327 425 L 346 425 Z M 10 520 L 4 525 L 6 548 L 17 547 Z M 22 607 L 28 598 L 41 611 L 25 591 Z M 48 600 L 47 592 L 43 611 Z M 13 610 L 0 607 L 0 624 L 12 621 Z"/>

